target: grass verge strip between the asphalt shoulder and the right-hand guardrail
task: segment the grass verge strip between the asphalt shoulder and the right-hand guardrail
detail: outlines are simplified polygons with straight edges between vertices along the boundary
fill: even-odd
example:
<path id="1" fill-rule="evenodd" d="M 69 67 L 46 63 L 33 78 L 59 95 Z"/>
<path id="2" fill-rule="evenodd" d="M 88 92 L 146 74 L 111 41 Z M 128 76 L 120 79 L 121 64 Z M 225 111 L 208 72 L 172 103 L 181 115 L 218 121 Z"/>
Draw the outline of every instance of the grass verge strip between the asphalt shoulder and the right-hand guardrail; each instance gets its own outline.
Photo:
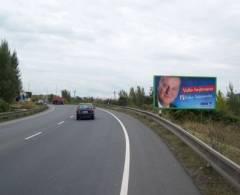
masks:
<path id="1" fill-rule="evenodd" d="M 173 133 L 161 127 L 150 117 L 121 108 L 111 107 L 110 109 L 133 116 L 161 137 L 186 172 L 192 177 L 195 185 L 203 195 L 237 195 L 240 193 L 189 146 L 182 142 Z"/>

